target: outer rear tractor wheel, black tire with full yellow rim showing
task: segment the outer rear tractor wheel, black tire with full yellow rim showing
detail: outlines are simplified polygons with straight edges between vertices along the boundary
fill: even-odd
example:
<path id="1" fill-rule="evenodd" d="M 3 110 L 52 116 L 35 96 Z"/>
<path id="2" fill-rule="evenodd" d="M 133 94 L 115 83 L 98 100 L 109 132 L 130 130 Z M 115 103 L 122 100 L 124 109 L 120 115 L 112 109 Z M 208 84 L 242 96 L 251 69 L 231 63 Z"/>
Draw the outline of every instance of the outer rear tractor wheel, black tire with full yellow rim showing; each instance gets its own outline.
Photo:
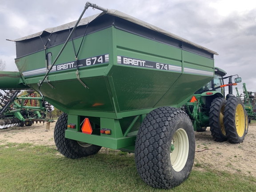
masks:
<path id="1" fill-rule="evenodd" d="M 230 97 L 224 111 L 226 136 L 230 143 L 239 144 L 244 141 L 245 114 L 244 104 L 239 97 Z"/>

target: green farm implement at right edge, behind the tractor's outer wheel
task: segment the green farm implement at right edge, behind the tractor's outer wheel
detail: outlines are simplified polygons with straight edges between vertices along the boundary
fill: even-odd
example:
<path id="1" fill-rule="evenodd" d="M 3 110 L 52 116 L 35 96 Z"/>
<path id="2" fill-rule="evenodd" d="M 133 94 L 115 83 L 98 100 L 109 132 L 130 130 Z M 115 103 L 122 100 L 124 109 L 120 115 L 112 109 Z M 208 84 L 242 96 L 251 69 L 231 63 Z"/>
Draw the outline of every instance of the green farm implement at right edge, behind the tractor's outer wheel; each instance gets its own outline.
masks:
<path id="1" fill-rule="evenodd" d="M 251 120 L 256 120 L 256 92 L 248 92 L 246 84 L 243 83 L 243 94 L 239 95 L 238 89 L 236 88 L 237 96 L 240 97 L 244 103 L 244 108 L 248 114 L 249 123 Z"/>

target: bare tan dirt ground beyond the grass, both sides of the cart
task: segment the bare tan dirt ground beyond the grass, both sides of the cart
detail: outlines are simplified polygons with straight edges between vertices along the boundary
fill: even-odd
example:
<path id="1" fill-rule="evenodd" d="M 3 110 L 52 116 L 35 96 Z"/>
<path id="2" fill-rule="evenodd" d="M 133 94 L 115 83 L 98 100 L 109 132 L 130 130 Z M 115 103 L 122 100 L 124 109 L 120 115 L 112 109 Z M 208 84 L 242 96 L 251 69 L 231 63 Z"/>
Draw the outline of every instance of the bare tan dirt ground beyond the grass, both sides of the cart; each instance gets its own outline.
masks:
<path id="1" fill-rule="evenodd" d="M 0 129 L 0 145 L 8 142 L 32 143 L 55 147 L 51 123 L 50 130 L 46 124 L 33 124 L 31 127 L 12 127 Z M 205 132 L 195 132 L 196 155 L 194 170 L 204 171 L 204 167 L 213 170 L 256 176 L 256 125 L 249 125 L 244 142 L 231 144 L 212 140 L 209 128 Z M 104 151 L 104 150 L 103 150 Z"/>

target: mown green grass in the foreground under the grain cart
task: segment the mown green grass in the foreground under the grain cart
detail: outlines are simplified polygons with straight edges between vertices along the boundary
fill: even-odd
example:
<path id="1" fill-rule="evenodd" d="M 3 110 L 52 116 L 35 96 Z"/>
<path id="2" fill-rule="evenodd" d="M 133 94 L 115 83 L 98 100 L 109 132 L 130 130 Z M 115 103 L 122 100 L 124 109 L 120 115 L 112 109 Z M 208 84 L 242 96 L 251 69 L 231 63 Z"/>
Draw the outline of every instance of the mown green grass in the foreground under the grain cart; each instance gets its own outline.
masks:
<path id="1" fill-rule="evenodd" d="M 200 164 L 196 164 L 200 167 Z M 233 192 L 256 191 L 256 178 L 209 168 L 192 171 L 180 186 L 156 189 L 136 171 L 134 156 L 108 150 L 68 159 L 48 146 L 0 145 L 0 192 Z"/>

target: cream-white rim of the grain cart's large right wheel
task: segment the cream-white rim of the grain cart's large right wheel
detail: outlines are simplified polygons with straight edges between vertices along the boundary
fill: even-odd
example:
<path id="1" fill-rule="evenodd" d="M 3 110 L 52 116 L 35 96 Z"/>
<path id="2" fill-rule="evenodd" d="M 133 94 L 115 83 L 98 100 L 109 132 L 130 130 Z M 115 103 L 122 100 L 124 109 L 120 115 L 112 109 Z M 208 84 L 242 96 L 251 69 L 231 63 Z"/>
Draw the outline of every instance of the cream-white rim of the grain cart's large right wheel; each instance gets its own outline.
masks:
<path id="1" fill-rule="evenodd" d="M 188 134 L 183 128 L 175 132 L 172 144 L 174 145 L 174 150 L 170 152 L 172 168 L 180 172 L 187 163 L 189 151 Z"/>

